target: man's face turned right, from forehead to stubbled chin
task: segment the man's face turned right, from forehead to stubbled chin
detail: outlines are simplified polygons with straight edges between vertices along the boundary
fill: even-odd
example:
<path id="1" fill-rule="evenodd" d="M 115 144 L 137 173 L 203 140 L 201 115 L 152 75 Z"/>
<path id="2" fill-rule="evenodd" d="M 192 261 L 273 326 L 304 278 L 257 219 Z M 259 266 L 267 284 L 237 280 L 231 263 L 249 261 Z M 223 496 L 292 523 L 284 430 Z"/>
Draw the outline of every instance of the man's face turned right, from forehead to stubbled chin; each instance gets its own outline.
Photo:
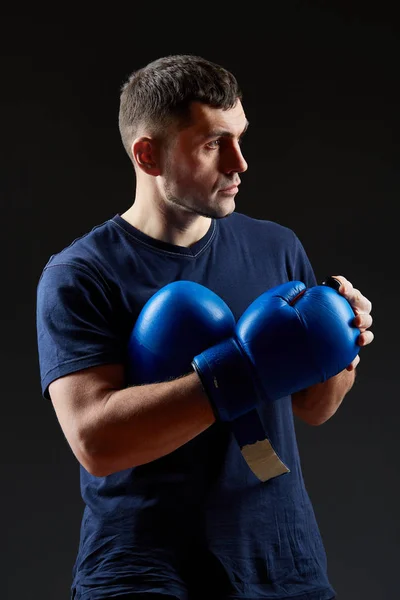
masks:
<path id="1" fill-rule="evenodd" d="M 247 129 L 241 102 L 229 110 L 195 102 L 190 126 L 175 134 L 159 177 L 167 203 L 213 218 L 235 209 L 239 174 L 247 170 L 240 141 Z M 227 189 L 231 188 L 231 189 Z"/>

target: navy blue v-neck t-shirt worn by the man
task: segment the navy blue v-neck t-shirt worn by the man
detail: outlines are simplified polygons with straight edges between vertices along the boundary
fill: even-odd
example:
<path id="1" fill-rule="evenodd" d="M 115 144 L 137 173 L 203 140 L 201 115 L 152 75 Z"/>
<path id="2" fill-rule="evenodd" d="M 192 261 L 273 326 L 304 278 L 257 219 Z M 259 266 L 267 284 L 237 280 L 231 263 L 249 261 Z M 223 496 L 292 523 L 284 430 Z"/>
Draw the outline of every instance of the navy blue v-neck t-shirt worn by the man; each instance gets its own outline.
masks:
<path id="1" fill-rule="evenodd" d="M 127 364 L 147 300 L 190 280 L 218 294 L 238 319 L 267 289 L 316 284 L 287 227 L 238 212 L 211 220 L 189 248 L 153 239 L 119 214 L 50 257 L 38 282 L 42 392 L 55 379 Z M 80 466 L 85 503 L 72 597 L 159 592 L 180 600 L 327 600 L 334 590 L 302 477 L 291 398 L 260 416 L 289 472 L 259 481 L 228 423 L 216 422 L 151 463 L 96 477 Z"/>

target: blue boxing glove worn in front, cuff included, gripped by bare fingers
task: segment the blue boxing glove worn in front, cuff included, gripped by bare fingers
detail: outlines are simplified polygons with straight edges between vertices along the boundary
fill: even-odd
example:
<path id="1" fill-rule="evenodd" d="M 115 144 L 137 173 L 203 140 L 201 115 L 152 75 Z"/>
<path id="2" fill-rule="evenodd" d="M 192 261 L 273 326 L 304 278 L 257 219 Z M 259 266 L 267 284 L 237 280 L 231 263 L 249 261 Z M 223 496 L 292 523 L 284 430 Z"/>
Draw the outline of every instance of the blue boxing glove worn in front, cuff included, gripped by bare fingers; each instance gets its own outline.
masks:
<path id="1" fill-rule="evenodd" d="M 354 312 L 336 290 L 306 289 L 299 281 L 272 288 L 239 319 L 229 339 L 193 359 L 203 387 L 223 421 L 254 406 L 326 381 L 356 357 Z"/>

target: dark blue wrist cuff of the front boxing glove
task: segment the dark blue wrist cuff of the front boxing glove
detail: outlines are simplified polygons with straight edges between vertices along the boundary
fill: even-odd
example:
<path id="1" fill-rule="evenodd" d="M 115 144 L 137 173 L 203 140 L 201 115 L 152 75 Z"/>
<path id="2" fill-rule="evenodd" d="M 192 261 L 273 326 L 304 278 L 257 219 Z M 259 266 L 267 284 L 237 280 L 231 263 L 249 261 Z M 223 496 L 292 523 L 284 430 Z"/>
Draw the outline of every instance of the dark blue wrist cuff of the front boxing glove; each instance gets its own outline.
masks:
<path id="1" fill-rule="evenodd" d="M 252 410 L 257 391 L 250 364 L 235 339 L 229 338 L 194 357 L 204 391 L 221 421 L 232 421 Z"/>

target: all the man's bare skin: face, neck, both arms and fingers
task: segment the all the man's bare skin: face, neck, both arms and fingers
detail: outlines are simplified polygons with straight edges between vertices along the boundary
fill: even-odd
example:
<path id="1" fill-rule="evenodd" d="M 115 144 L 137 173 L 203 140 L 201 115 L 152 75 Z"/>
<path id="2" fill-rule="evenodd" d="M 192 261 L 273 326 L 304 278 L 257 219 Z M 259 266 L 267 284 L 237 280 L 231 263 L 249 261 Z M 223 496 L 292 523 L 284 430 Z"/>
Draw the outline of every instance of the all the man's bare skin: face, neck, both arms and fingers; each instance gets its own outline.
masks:
<path id="1" fill-rule="evenodd" d="M 136 195 L 122 215 L 147 235 L 190 247 L 208 231 L 211 219 L 235 210 L 237 189 L 247 170 L 240 141 L 247 129 L 238 101 L 226 111 L 199 103 L 191 125 L 168 131 L 168 144 L 143 128 L 132 142 Z M 371 302 L 342 275 L 339 293 L 350 302 L 358 343 L 373 340 Z M 310 425 L 331 418 L 353 386 L 353 363 L 328 381 L 293 394 L 293 412 Z M 50 397 L 78 461 L 105 476 L 151 462 L 192 440 L 215 422 L 196 373 L 162 383 L 125 387 L 124 367 L 107 364 L 53 381 Z"/>

